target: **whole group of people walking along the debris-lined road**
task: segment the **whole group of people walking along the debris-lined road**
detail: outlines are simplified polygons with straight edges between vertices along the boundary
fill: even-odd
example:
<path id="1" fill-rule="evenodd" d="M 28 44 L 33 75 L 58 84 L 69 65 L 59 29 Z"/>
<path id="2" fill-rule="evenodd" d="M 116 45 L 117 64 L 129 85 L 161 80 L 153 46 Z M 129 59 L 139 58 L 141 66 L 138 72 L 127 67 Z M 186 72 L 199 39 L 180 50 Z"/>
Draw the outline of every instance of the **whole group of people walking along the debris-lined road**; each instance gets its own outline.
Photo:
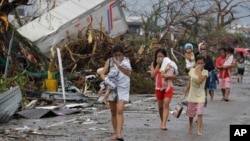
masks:
<path id="1" fill-rule="evenodd" d="M 208 54 L 208 45 L 202 42 L 198 45 L 198 52 L 194 53 L 191 43 L 184 45 L 186 72 L 189 79 L 183 96 L 187 98 L 187 111 L 189 117 L 189 132 L 193 128 L 193 119 L 197 116 L 197 135 L 202 135 L 203 109 L 207 103 L 207 94 L 210 100 L 214 99 L 216 83 L 219 83 L 222 92 L 222 101 L 229 101 L 230 86 L 232 82 L 232 68 L 235 59 L 232 59 L 232 49 L 220 48 L 219 57 L 214 61 Z M 115 45 L 112 57 L 107 59 L 101 78 L 107 84 L 108 91 L 105 93 L 104 101 L 109 102 L 111 111 L 111 122 L 114 130 L 112 140 L 124 140 L 122 128 L 124 123 L 124 105 L 129 102 L 131 64 L 127 57 L 123 56 L 124 50 L 121 45 Z M 238 82 L 242 83 L 244 74 L 244 56 L 239 54 L 238 60 Z M 215 63 L 214 63 L 215 62 Z M 217 75 L 216 71 L 219 71 Z M 160 116 L 159 128 L 168 130 L 167 121 L 170 111 L 170 103 L 174 93 L 172 80 L 178 75 L 178 67 L 174 61 L 167 57 L 163 48 L 156 50 L 154 60 L 150 66 L 151 77 L 155 78 L 155 96 L 158 103 Z"/>

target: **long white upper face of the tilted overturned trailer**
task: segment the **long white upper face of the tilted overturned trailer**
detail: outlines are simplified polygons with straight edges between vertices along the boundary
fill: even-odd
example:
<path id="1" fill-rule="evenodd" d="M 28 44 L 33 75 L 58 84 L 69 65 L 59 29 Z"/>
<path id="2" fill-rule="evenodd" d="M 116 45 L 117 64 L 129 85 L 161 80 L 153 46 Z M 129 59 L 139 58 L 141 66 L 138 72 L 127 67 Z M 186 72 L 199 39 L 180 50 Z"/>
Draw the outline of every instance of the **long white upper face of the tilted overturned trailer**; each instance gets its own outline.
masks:
<path id="1" fill-rule="evenodd" d="M 66 1 L 48 13 L 43 14 L 41 17 L 19 28 L 18 31 L 31 41 L 37 41 L 42 37 L 46 37 L 46 34 L 56 32 L 62 25 L 71 22 L 82 13 L 104 1 L 105 0 Z"/>

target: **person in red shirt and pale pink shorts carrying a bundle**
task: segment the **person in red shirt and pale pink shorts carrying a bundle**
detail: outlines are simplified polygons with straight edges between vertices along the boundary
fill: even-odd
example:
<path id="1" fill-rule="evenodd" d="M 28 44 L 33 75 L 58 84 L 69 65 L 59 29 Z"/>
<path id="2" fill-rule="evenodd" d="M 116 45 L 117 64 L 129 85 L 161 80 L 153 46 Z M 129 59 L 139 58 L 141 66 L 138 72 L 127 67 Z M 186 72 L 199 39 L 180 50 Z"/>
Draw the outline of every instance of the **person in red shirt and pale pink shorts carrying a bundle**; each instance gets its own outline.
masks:
<path id="1" fill-rule="evenodd" d="M 230 93 L 230 87 L 231 87 L 231 78 L 229 75 L 229 71 L 225 70 L 230 70 L 233 65 L 229 66 L 223 66 L 225 59 L 226 59 L 226 49 L 225 48 L 220 48 L 219 49 L 220 56 L 216 59 L 216 68 L 219 69 L 219 85 L 221 88 L 222 92 L 222 101 L 229 101 L 229 93 Z M 223 76 L 224 72 L 224 76 Z"/>

